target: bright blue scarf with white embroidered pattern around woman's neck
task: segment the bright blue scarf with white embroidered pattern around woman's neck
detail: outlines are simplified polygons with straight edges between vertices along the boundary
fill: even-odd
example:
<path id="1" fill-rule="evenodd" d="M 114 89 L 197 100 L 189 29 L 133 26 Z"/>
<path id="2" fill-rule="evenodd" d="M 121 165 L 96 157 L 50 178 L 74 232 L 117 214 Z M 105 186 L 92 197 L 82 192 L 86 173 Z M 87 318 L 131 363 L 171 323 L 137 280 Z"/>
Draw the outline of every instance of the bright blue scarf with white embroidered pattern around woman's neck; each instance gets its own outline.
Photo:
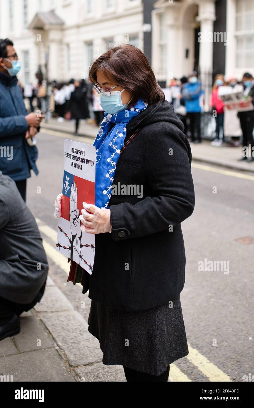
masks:
<path id="1" fill-rule="evenodd" d="M 123 109 L 115 115 L 104 114 L 105 118 L 93 143 L 96 149 L 95 205 L 99 208 L 108 208 L 116 164 L 126 136 L 126 125 L 146 107 L 143 100 L 138 100 L 133 108 Z M 115 125 L 112 127 L 112 124 Z"/>

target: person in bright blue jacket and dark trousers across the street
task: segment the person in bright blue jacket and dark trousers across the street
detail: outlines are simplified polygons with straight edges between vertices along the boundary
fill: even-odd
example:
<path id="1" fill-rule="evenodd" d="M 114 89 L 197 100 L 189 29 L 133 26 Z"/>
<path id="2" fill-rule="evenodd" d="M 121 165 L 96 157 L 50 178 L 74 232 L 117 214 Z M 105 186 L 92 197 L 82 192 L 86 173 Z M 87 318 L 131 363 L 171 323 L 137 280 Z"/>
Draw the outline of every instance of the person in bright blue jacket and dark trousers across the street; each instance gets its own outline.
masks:
<path id="1" fill-rule="evenodd" d="M 199 97 L 204 93 L 202 90 L 202 84 L 197 79 L 197 72 L 194 71 L 188 77 L 188 82 L 182 87 L 182 99 L 186 107 L 186 113 L 190 122 L 190 134 L 191 142 L 201 143 L 201 130 L 200 130 L 200 113 L 201 106 L 199 103 Z M 195 138 L 195 132 L 197 138 Z"/>

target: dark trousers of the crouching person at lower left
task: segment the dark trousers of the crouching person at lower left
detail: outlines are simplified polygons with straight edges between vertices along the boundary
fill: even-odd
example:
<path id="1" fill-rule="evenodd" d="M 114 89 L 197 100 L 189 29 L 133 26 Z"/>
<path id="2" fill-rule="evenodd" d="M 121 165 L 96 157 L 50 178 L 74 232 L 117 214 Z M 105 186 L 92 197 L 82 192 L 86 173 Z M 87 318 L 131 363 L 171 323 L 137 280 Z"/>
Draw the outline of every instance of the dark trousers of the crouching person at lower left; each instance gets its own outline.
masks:
<path id="1" fill-rule="evenodd" d="M 31 303 L 20 304 L 11 302 L 10 300 L 4 299 L 4 297 L 0 296 L 0 326 L 9 322 L 14 315 L 21 315 L 23 312 L 27 312 L 33 306 L 36 305 L 41 299 L 44 293 L 46 286 L 46 280 L 42 285 L 42 288 L 39 290 L 39 293 L 35 296 Z"/>

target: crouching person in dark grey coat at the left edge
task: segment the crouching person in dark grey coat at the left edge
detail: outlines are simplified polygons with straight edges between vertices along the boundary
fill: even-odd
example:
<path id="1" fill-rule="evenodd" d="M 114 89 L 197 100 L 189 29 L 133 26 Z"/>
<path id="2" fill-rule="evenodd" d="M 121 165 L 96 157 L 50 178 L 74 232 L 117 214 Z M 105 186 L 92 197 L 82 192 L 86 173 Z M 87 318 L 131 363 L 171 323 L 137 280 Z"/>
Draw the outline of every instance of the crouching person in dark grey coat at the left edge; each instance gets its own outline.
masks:
<path id="1" fill-rule="evenodd" d="M 19 315 L 40 301 L 47 274 L 35 218 L 0 171 L 0 340 L 20 333 Z"/>

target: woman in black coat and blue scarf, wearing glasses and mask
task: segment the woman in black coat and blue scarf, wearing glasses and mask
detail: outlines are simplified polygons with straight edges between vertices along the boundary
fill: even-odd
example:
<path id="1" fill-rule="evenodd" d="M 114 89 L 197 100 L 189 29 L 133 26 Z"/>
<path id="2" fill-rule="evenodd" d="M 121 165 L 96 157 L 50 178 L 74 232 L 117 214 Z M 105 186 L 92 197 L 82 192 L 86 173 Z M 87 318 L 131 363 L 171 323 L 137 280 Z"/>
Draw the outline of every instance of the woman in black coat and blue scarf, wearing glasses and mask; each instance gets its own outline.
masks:
<path id="1" fill-rule="evenodd" d="M 138 48 L 107 51 L 90 79 L 105 118 L 94 141 L 96 205 L 80 216 L 81 230 L 96 234 L 92 275 L 82 270 L 88 330 L 103 364 L 123 365 L 127 381 L 168 381 L 169 365 L 188 355 L 180 292 L 181 222 L 195 202 L 190 145 Z"/>

